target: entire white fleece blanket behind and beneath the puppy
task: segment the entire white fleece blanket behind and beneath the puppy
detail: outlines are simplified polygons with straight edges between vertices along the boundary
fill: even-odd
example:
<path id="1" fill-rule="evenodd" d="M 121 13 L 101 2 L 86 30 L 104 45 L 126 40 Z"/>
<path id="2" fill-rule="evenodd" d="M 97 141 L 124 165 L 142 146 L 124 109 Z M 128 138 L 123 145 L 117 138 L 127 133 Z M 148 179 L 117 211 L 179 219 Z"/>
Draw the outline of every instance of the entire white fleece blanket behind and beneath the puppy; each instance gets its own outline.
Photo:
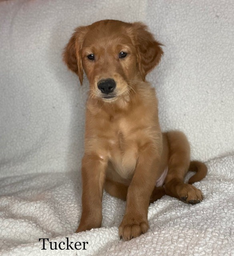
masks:
<path id="1" fill-rule="evenodd" d="M 233 13 L 232 0 L 0 1 L 1 256 L 234 255 Z M 183 130 L 192 158 L 209 166 L 196 184 L 202 203 L 163 197 L 130 242 L 117 236 L 125 204 L 107 194 L 103 228 L 73 234 L 88 81 L 81 87 L 61 54 L 76 26 L 106 18 L 145 22 L 164 44 L 148 76 L 162 130 Z M 39 238 L 66 237 L 87 250 L 40 250 Z"/>

